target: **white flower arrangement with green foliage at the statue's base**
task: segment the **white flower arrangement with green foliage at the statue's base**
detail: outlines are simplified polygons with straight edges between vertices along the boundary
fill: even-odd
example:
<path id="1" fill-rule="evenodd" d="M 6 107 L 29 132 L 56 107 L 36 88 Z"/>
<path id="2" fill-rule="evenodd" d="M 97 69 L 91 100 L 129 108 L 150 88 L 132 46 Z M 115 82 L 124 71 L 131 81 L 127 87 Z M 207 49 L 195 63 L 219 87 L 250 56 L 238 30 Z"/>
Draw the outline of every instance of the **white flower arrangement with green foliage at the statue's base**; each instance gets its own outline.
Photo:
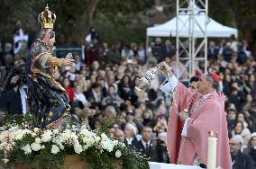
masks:
<path id="1" fill-rule="evenodd" d="M 120 118 L 120 117 L 119 117 Z M 85 157 L 88 165 L 111 168 L 148 168 L 149 158 L 105 134 L 118 117 L 106 118 L 99 129 L 88 130 L 85 124 L 67 120 L 60 129 L 31 128 L 33 117 L 6 118 L 0 129 L 0 164 L 60 166 L 66 156 Z M 102 155 L 101 155 L 102 154 Z M 95 163 L 97 162 L 97 163 Z"/>

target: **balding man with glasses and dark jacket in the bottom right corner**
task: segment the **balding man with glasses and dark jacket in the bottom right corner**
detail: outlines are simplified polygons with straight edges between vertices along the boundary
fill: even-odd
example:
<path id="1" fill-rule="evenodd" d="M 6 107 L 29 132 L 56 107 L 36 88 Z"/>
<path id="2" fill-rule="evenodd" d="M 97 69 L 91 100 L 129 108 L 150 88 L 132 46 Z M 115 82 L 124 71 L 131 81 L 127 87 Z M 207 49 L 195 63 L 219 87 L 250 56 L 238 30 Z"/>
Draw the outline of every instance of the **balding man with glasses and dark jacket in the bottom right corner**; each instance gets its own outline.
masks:
<path id="1" fill-rule="evenodd" d="M 230 138 L 229 145 L 233 169 L 253 169 L 251 156 L 243 154 L 240 150 L 242 137 L 240 135 L 235 135 L 233 138 Z"/>

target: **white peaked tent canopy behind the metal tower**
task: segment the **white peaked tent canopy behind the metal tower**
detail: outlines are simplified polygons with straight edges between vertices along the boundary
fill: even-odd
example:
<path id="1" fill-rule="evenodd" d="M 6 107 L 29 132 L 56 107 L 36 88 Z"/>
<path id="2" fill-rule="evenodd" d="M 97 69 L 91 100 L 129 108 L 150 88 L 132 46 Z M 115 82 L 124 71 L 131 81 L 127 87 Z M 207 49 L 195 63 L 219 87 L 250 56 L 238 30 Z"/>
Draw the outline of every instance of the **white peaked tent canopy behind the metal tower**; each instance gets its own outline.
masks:
<path id="1" fill-rule="evenodd" d="M 205 30 L 205 13 L 195 15 L 195 19 L 197 20 L 197 24 L 194 25 L 194 37 L 195 38 L 203 38 L 205 37 L 203 31 Z M 188 27 L 189 27 L 189 15 L 184 14 L 180 15 L 178 20 L 178 30 L 179 37 L 188 37 Z M 177 17 L 171 19 L 169 22 L 165 22 L 158 26 L 147 28 L 147 37 L 176 37 L 176 24 Z M 182 29 L 181 29 L 182 28 Z M 201 31 L 200 28 L 203 30 Z M 219 22 L 215 22 L 215 20 L 208 18 L 208 22 L 206 24 L 206 35 L 211 38 L 227 38 L 231 35 L 237 37 L 237 29 L 224 26 Z"/>

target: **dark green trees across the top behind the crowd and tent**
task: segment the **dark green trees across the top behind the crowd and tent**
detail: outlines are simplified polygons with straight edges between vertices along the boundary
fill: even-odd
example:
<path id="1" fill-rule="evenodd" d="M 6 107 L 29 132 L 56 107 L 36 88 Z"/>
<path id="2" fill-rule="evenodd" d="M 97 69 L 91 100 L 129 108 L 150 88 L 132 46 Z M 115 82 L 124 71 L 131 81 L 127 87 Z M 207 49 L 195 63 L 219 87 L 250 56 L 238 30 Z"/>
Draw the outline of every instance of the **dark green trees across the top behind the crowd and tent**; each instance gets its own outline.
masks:
<path id="1" fill-rule="evenodd" d="M 165 13 L 176 13 L 175 0 L 161 2 Z M 134 23 L 134 20 L 138 19 L 137 13 L 154 7 L 154 0 L 2 0 L 1 39 L 11 41 L 14 29 L 19 26 L 29 32 L 39 28 L 37 16 L 47 3 L 57 15 L 54 29 L 59 44 L 82 43 L 91 25 L 97 26 L 103 40 L 143 41 L 144 29 L 151 25 Z M 209 15 L 218 22 L 237 27 L 240 37 L 256 50 L 255 0 L 209 0 Z"/>

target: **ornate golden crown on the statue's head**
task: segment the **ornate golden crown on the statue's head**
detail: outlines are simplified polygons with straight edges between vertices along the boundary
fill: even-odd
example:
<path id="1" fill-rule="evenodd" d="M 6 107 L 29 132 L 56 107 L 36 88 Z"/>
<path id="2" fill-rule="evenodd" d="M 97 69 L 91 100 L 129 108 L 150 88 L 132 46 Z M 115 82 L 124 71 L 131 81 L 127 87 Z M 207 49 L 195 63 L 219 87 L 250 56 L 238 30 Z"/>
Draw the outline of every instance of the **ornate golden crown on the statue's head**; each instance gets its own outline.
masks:
<path id="1" fill-rule="evenodd" d="M 41 22 L 42 29 L 53 29 L 56 15 L 49 11 L 48 4 L 46 4 L 45 10 L 38 15 L 38 20 Z"/>

